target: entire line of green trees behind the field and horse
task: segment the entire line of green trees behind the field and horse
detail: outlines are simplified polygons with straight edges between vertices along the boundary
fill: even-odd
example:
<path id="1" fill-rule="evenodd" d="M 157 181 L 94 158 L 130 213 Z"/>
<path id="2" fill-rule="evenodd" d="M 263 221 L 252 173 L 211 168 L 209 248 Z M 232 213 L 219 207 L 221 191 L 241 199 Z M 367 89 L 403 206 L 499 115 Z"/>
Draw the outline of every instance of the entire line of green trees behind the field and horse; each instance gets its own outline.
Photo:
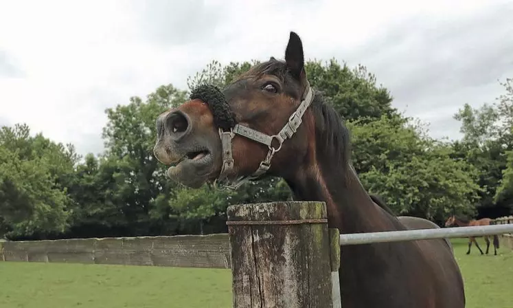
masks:
<path id="1" fill-rule="evenodd" d="M 26 124 L 0 131 L 0 238 L 207 234 L 226 232 L 230 204 L 291 199 L 288 186 L 271 178 L 237 191 L 198 190 L 166 179 L 152 154 L 155 119 L 181 104 L 195 85 L 227 85 L 257 61 L 212 61 L 187 78 L 188 89 L 161 85 L 146 98 L 106 109 L 106 151 L 81 157 Z M 498 217 L 513 213 L 512 79 L 494 102 L 454 115 L 461 140 L 436 140 L 426 125 L 392 107 L 388 89 L 358 65 L 308 61 L 310 84 L 345 120 L 352 135 L 352 163 L 369 192 L 396 214 L 441 223 L 448 214 Z"/>

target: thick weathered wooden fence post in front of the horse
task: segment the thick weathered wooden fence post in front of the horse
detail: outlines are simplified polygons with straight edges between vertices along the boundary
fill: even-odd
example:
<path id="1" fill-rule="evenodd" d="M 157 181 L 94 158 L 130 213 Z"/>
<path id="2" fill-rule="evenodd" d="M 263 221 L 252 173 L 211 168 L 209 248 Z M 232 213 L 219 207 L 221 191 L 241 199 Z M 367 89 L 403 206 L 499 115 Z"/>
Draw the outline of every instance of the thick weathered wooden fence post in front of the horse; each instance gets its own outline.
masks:
<path id="1" fill-rule="evenodd" d="M 326 204 L 229 206 L 233 307 L 333 307 Z"/>

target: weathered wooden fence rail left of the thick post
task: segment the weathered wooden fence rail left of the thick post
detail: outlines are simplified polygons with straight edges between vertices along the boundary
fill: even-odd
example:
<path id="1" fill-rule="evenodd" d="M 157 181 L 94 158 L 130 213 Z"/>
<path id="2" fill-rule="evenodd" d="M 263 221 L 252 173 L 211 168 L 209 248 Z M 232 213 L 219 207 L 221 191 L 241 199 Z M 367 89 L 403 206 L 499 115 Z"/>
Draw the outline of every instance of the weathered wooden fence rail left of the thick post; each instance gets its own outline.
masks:
<path id="1" fill-rule="evenodd" d="M 228 234 L 0 243 L 0 261 L 230 268 Z"/>

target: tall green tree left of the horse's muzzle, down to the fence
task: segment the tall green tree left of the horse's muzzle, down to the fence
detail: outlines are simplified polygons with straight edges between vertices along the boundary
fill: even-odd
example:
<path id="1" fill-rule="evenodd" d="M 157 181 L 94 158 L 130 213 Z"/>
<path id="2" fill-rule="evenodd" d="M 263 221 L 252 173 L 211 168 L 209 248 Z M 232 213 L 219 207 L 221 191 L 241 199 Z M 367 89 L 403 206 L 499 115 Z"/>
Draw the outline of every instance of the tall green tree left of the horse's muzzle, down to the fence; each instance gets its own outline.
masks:
<path id="1" fill-rule="evenodd" d="M 157 162 L 152 148 L 157 116 L 184 101 L 185 91 L 163 85 L 145 102 L 133 97 L 129 104 L 106 109 L 106 153 L 98 159 L 88 155 L 72 186 L 74 232 L 100 230 L 113 232 L 111 236 L 174 232 L 176 223 L 170 220 L 166 203 L 176 185 L 166 179 L 166 166 Z"/>

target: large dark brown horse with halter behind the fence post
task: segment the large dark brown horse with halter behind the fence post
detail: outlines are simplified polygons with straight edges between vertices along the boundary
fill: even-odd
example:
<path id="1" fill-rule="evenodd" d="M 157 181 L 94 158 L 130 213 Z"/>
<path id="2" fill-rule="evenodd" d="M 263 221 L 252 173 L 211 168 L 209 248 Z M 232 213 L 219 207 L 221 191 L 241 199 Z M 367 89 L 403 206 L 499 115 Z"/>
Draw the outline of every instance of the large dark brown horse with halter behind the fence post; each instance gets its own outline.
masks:
<path id="1" fill-rule="evenodd" d="M 341 233 L 437 228 L 395 217 L 363 188 L 350 164 L 350 133 L 310 87 L 294 32 L 285 61 L 271 57 L 223 89 L 227 106 L 212 107 L 209 100 L 223 106 L 222 98 L 203 90 L 157 119 L 154 153 L 176 164 L 172 179 L 192 188 L 214 180 L 236 187 L 274 175 L 295 200 L 326 202 L 328 224 Z M 461 273 L 443 239 L 343 246 L 339 277 L 344 308 L 465 306 Z"/>

